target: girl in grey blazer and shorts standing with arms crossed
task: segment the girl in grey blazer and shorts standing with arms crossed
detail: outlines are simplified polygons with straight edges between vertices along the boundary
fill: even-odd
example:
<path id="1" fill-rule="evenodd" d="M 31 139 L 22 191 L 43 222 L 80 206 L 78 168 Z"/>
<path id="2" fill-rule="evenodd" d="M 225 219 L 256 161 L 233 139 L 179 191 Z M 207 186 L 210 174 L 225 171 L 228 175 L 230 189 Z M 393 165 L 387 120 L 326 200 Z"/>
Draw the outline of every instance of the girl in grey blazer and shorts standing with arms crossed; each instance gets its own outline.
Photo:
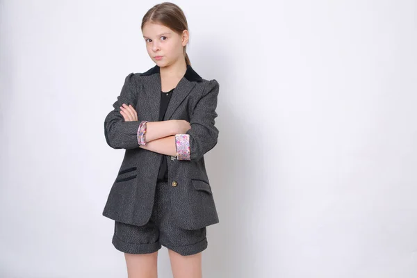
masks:
<path id="1" fill-rule="evenodd" d="M 125 154 L 103 215 L 115 220 L 112 243 L 129 277 L 157 277 L 162 245 L 174 277 L 202 277 L 206 227 L 219 222 L 204 164 L 218 142 L 219 84 L 191 67 L 177 5 L 154 6 L 141 28 L 156 65 L 126 76 L 104 120 L 106 142 Z"/>

